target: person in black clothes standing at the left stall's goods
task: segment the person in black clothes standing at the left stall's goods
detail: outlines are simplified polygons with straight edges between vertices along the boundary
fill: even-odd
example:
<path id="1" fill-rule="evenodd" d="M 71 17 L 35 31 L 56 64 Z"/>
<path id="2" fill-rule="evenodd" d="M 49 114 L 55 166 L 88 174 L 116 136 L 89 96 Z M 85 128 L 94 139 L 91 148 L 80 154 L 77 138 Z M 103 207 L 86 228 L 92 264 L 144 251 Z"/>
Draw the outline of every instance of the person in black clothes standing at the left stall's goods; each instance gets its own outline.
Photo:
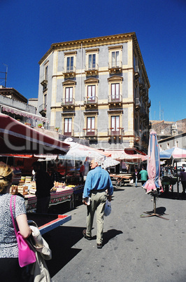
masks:
<path id="1" fill-rule="evenodd" d="M 54 182 L 50 175 L 43 170 L 40 161 L 35 161 L 32 166 L 36 173 L 36 213 L 48 213 L 50 189 L 54 186 Z"/>

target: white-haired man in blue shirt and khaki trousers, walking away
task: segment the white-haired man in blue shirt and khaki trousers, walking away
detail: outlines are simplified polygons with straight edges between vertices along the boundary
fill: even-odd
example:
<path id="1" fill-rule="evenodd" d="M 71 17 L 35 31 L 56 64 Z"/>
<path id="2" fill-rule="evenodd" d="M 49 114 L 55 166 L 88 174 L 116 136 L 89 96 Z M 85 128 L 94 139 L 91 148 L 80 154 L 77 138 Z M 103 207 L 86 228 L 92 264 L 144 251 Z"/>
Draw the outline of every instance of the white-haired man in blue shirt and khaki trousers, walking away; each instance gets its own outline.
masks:
<path id="1" fill-rule="evenodd" d="M 113 184 L 110 180 L 110 175 L 106 170 L 101 168 L 101 159 L 95 158 L 91 161 L 90 167 L 92 170 L 87 174 L 85 187 L 83 191 L 83 203 L 87 205 L 87 229 L 83 230 L 83 236 L 92 239 L 92 225 L 94 213 L 96 211 L 97 222 L 97 248 L 102 248 L 103 243 L 103 214 L 106 204 L 106 199 L 111 201 L 113 194 Z M 107 196 L 108 194 L 108 196 Z M 89 203 L 89 198 L 90 203 Z"/>

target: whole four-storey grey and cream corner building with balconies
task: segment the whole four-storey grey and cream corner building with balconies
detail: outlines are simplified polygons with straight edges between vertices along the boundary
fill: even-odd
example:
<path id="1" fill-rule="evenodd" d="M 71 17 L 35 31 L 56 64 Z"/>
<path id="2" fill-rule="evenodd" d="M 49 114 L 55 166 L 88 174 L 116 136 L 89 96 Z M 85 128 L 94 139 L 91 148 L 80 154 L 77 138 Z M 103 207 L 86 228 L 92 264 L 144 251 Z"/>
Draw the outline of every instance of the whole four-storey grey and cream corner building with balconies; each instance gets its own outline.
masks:
<path id="1" fill-rule="evenodd" d="M 99 149 L 147 149 L 150 83 L 134 32 L 53 43 L 39 65 L 51 129 Z"/>

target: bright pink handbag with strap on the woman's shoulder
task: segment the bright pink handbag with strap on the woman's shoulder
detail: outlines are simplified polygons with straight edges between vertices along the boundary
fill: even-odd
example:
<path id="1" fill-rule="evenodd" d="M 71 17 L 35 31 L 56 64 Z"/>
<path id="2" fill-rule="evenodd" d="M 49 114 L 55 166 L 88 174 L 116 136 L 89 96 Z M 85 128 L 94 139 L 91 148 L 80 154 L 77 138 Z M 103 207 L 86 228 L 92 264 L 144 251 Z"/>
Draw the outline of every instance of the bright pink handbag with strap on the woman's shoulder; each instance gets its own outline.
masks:
<path id="1" fill-rule="evenodd" d="M 14 196 L 14 210 L 15 210 L 15 198 Z M 34 253 L 34 250 L 31 248 L 30 243 L 27 241 L 27 239 L 24 239 L 22 235 L 20 234 L 20 231 L 17 232 L 15 227 L 15 220 L 13 218 L 13 210 L 12 210 L 12 200 L 13 196 L 11 196 L 10 199 L 10 213 L 13 220 L 13 227 L 15 229 L 15 236 L 17 239 L 17 245 L 19 249 L 19 264 L 20 267 L 25 267 L 28 264 L 31 264 L 33 262 L 36 262 L 36 254 Z"/>

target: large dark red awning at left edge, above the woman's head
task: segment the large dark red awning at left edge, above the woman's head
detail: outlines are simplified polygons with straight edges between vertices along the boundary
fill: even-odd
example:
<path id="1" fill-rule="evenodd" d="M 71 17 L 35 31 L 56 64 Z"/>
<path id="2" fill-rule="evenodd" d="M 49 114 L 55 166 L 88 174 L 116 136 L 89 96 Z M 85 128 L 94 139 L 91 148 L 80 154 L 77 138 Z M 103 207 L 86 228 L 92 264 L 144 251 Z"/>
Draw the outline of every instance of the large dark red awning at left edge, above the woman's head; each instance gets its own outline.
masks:
<path id="1" fill-rule="evenodd" d="M 69 145 L 0 114 L 0 154 L 66 154 Z"/>

